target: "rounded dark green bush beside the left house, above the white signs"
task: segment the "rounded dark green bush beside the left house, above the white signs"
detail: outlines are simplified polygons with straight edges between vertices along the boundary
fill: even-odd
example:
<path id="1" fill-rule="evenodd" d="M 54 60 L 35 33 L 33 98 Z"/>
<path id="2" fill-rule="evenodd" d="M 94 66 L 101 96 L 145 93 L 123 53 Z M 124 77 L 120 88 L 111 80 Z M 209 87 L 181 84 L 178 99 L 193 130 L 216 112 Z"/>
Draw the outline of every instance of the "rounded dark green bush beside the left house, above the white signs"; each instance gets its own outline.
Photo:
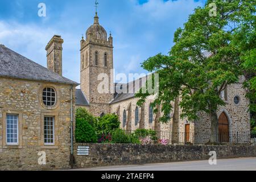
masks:
<path id="1" fill-rule="evenodd" d="M 94 128 L 85 119 L 76 119 L 76 142 L 78 143 L 96 143 L 97 135 Z"/>

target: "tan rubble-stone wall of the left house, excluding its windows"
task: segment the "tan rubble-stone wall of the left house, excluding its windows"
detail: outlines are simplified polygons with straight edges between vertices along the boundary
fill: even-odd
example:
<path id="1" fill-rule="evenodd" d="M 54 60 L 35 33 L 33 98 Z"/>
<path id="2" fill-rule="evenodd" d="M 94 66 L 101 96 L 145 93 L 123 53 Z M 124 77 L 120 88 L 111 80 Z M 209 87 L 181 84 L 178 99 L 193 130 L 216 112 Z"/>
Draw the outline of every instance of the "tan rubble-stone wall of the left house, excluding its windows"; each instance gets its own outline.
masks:
<path id="1" fill-rule="evenodd" d="M 53 107 L 46 107 L 42 102 L 42 90 L 46 86 L 56 90 L 57 102 Z M 75 111 L 75 86 L 73 93 Z M 70 97 L 70 85 L 0 77 L 0 170 L 70 168 Z M 7 146 L 4 139 L 4 118 L 9 113 L 19 115 L 18 146 Z M 54 146 L 44 144 L 44 115 L 55 117 Z M 46 152 L 46 165 L 38 164 L 39 151 Z"/>

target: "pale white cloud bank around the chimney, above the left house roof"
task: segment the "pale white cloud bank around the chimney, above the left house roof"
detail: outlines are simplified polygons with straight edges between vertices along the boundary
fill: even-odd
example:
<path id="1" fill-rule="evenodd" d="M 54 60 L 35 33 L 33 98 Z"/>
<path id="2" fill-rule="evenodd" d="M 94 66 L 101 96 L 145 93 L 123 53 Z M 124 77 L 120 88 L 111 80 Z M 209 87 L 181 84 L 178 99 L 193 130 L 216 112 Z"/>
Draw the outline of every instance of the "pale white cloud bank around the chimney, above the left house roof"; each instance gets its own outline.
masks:
<path id="1" fill-rule="evenodd" d="M 47 65 L 45 47 L 52 36 L 59 33 L 61 31 L 41 28 L 35 24 L 0 21 L 0 43 L 44 67 Z M 73 39 L 72 35 L 63 32 L 61 37 L 64 39 L 63 75 L 79 82 L 80 56 L 76 49 L 79 50 L 80 42 Z"/>

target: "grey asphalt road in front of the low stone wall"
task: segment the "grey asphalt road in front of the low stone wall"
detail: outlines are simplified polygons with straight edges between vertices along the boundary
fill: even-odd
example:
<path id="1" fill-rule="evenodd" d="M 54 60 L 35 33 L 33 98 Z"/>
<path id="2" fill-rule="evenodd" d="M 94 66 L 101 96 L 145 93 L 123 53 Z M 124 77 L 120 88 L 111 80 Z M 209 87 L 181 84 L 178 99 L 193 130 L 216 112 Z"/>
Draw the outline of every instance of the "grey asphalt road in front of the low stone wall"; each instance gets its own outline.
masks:
<path id="1" fill-rule="evenodd" d="M 130 166 L 110 166 L 76 169 L 79 171 L 256 171 L 256 158 L 217 159 L 216 165 L 208 160 L 143 164 Z"/>

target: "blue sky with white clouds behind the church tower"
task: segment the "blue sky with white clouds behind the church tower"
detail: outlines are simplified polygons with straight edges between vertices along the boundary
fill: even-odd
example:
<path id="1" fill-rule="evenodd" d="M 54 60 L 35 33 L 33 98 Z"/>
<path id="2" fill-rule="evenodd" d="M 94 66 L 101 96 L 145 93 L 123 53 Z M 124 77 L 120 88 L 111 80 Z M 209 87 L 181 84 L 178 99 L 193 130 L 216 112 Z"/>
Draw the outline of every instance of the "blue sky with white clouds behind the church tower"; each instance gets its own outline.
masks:
<path id="1" fill-rule="evenodd" d="M 45 3 L 47 16 L 38 16 Z M 114 38 L 116 73 L 147 73 L 141 63 L 167 54 L 174 32 L 205 0 L 98 0 L 100 24 Z M 80 40 L 93 24 L 94 0 L 1 0 L 0 44 L 46 67 L 45 47 L 61 35 L 63 75 L 80 82 Z"/>

